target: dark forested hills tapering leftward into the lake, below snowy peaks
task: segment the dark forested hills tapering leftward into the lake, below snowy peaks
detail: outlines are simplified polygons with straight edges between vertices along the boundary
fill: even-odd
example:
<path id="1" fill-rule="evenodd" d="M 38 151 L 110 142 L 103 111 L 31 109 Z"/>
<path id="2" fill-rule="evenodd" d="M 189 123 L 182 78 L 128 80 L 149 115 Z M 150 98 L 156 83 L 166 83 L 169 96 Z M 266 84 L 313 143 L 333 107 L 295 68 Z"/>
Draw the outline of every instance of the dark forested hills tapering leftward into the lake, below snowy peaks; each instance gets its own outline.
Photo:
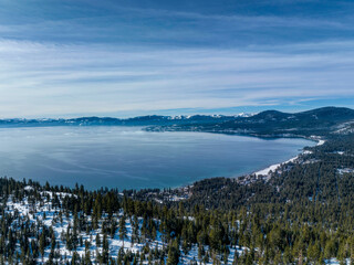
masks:
<path id="1" fill-rule="evenodd" d="M 211 132 L 244 134 L 262 137 L 326 136 L 344 123 L 354 120 L 350 108 L 324 107 L 288 114 L 267 110 L 251 117 L 209 124 L 150 127 L 149 130 L 199 130 Z"/>

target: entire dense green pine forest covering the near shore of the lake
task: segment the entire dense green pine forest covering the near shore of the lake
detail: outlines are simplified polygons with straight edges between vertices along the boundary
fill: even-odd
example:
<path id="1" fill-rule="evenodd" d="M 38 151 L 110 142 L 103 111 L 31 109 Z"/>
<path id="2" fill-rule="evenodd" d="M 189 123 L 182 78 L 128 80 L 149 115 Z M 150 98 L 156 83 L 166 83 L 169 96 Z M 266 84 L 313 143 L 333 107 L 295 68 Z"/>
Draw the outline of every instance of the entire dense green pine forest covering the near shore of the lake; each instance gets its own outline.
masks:
<path id="1" fill-rule="evenodd" d="M 0 179 L 1 264 L 354 262 L 354 135 L 267 176 L 87 191 Z"/>

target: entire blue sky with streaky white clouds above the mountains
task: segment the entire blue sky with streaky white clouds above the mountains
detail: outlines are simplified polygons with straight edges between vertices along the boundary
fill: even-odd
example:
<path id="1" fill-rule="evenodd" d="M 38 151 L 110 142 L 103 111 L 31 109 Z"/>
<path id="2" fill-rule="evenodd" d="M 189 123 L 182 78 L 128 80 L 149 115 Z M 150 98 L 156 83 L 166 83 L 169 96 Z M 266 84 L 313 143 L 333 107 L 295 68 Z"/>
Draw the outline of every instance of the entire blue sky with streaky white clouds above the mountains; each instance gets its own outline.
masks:
<path id="1" fill-rule="evenodd" d="M 0 118 L 353 108 L 353 0 L 0 0 Z"/>

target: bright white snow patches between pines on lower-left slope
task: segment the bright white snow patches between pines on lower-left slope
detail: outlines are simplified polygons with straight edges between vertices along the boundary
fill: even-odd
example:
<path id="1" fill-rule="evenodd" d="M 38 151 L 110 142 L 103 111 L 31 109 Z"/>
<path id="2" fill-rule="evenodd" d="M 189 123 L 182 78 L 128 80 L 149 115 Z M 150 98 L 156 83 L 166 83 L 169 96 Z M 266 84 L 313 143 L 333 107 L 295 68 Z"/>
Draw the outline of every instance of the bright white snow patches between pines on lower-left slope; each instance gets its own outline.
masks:
<path id="1" fill-rule="evenodd" d="M 31 190 L 31 187 L 25 187 L 25 190 Z M 64 198 L 65 195 L 72 195 L 72 194 L 67 194 L 67 193 L 61 193 L 58 192 L 56 195 L 59 198 Z M 45 198 L 49 197 L 50 200 L 46 200 Z M 33 205 L 31 205 L 27 199 L 23 199 L 23 201 L 21 202 L 13 202 L 13 200 L 11 199 L 12 197 L 9 197 L 9 200 L 7 202 L 7 213 L 10 214 L 14 214 L 17 211 L 19 212 L 21 218 L 29 218 L 30 222 L 42 222 L 45 226 L 53 227 L 53 231 L 55 233 L 55 239 L 56 239 L 56 243 L 59 244 L 59 250 L 60 250 L 60 254 L 62 256 L 66 256 L 67 259 L 71 259 L 71 257 L 73 256 L 74 251 L 69 251 L 66 248 L 66 244 L 65 242 L 63 242 L 62 240 L 62 233 L 65 233 L 67 227 L 71 226 L 73 227 L 73 216 L 72 214 L 70 214 L 69 216 L 66 216 L 65 214 L 62 214 L 62 221 L 59 216 L 59 211 L 60 209 L 54 208 L 52 205 L 51 202 L 51 198 L 53 198 L 53 193 L 52 192 L 42 192 L 42 199 L 44 201 L 44 203 L 37 203 L 33 208 Z M 121 212 L 119 214 L 116 215 L 117 219 L 123 216 L 123 212 Z M 104 219 L 105 216 L 103 216 Z M 138 219 L 139 220 L 139 226 L 142 226 L 143 224 L 143 219 Z M 88 218 L 88 221 L 91 221 L 91 219 Z M 103 239 L 102 236 L 102 229 L 101 229 L 101 224 L 102 222 L 100 222 L 100 227 L 97 230 L 93 230 L 90 231 L 88 233 L 86 232 L 81 232 L 77 237 L 82 237 L 82 242 L 88 241 L 90 242 L 90 252 L 91 252 L 91 257 L 92 261 L 94 262 L 95 257 L 96 257 L 96 251 L 98 251 L 100 253 L 102 253 L 102 247 L 96 247 L 96 235 L 97 233 L 101 235 L 101 241 Z M 125 252 L 131 251 L 133 253 L 142 253 L 145 243 L 135 243 L 132 244 L 132 223 L 131 223 L 131 219 L 127 218 L 126 219 L 126 229 L 127 229 L 127 239 L 125 239 L 125 241 L 123 241 L 122 239 L 119 239 L 118 235 L 118 227 L 114 234 L 113 237 L 108 237 L 108 243 L 110 243 L 110 256 L 116 258 L 118 256 L 118 252 L 121 248 L 123 248 Z M 157 231 L 157 236 L 156 240 L 154 241 L 149 241 L 148 242 L 149 245 L 152 246 L 152 248 L 154 250 L 155 247 L 162 250 L 164 247 L 164 245 L 166 246 L 166 243 L 163 243 L 162 240 L 162 234 Z M 205 250 L 207 251 L 208 247 L 205 247 Z M 84 256 L 85 254 L 85 244 L 79 245 L 79 247 L 75 250 L 76 253 L 80 256 Z M 235 253 L 237 252 L 238 255 L 241 255 L 244 251 L 244 247 L 231 247 L 230 248 L 230 255 L 228 257 L 228 264 L 232 264 L 233 262 L 233 257 L 235 257 Z M 45 248 L 45 254 L 44 254 L 44 258 L 42 259 L 42 257 L 38 258 L 38 263 L 42 263 L 42 262 L 46 262 L 49 261 L 49 255 L 51 252 L 51 247 L 48 246 Z M 189 251 L 188 255 L 184 255 L 183 251 L 181 253 L 181 257 L 180 257 L 180 264 L 189 264 L 191 261 L 198 261 L 198 246 L 192 245 L 191 250 Z M 144 264 L 147 264 L 148 262 L 145 262 Z M 212 264 L 212 259 L 210 258 L 209 263 L 206 264 Z"/>

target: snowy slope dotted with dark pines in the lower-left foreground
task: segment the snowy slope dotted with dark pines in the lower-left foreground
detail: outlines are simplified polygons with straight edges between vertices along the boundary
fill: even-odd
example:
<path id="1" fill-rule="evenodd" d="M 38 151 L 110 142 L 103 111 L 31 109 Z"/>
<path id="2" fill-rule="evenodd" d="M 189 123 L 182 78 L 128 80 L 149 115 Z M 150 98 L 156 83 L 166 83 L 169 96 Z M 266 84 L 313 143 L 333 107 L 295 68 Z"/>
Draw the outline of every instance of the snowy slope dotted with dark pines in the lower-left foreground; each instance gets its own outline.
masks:
<path id="1" fill-rule="evenodd" d="M 198 247 L 196 234 L 180 250 L 174 236 L 189 226 L 196 230 L 194 219 L 113 191 L 88 193 L 82 188 L 63 190 L 7 179 L 0 186 L 1 263 L 196 264 L 202 255 L 205 264 L 212 264 L 210 256 L 200 253 L 200 247 L 204 253 L 210 247 Z M 228 254 L 218 258 L 232 263 L 244 251 L 230 245 Z"/>

